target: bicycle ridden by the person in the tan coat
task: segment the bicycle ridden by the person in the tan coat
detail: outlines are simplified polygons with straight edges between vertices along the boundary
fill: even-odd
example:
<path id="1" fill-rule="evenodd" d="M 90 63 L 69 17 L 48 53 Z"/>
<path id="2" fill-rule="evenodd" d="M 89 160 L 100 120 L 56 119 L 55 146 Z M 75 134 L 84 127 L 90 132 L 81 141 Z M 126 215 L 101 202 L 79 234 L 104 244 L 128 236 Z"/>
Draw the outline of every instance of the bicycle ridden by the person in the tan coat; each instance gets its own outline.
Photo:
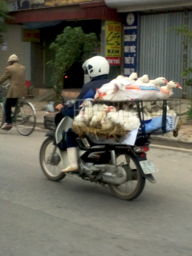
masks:
<path id="1" fill-rule="evenodd" d="M 10 84 L 1 85 L 2 88 L 7 90 Z M 1 95 L 2 96 L 2 95 Z M 0 129 L 5 123 L 4 116 L 4 99 L 0 100 Z M 12 111 L 12 123 L 15 124 L 17 131 L 23 135 L 30 135 L 36 126 L 36 110 L 31 102 L 24 99 L 18 99 L 14 111 Z"/>

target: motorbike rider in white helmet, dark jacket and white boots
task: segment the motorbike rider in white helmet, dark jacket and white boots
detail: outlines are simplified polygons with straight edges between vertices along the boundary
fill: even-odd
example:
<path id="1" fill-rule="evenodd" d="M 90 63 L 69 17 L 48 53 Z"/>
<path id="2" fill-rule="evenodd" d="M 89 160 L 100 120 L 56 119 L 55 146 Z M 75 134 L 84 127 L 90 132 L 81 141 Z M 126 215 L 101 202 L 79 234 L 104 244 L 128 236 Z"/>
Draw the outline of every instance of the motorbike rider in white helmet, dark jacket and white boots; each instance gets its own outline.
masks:
<path id="1" fill-rule="evenodd" d="M 100 88 L 103 84 L 110 82 L 110 80 L 107 78 L 107 75 L 109 73 L 108 61 L 104 57 L 94 56 L 86 60 L 82 65 L 82 68 L 84 70 L 87 69 L 88 74 L 91 78 L 91 81 L 86 83 L 83 86 L 77 99 L 87 99 L 87 98 L 94 99 L 96 89 Z M 65 107 L 63 107 L 62 104 L 59 104 L 59 106 L 56 106 L 56 108 L 62 114 L 62 118 L 63 116 L 71 116 L 71 113 L 74 111 L 74 106 L 71 109 L 66 109 Z M 57 120 L 58 119 L 56 117 L 55 121 Z M 68 130 L 66 134 L 66 147 L 67 147 L 69 165 L 67 168 L 63 169 L 62 172 L 76 171 L 78 170 L 77 151 L 76 151 L 76 134 L 72 131 L 71 128 Z"/>

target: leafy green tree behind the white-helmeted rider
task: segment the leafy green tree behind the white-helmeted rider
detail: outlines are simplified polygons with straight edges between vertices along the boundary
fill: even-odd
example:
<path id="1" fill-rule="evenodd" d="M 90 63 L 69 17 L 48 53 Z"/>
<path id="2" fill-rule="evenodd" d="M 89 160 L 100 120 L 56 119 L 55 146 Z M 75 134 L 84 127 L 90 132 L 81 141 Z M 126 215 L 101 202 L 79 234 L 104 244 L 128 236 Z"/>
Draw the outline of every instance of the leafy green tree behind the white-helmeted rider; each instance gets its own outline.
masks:
<path id="1" fill-rule="evenodd" d="M 56 88 L 63 87 L 63 76 L 68 68 L 76 62 L 83 63 L 88 59 L 97 44 L 96 34 L 85 34 L 81 27 L 66 27 L 56 37 L 50 45 L 50 49 L 55 51 L 55 59 L 47 63 L 53 66 L 52 81 Z"/>

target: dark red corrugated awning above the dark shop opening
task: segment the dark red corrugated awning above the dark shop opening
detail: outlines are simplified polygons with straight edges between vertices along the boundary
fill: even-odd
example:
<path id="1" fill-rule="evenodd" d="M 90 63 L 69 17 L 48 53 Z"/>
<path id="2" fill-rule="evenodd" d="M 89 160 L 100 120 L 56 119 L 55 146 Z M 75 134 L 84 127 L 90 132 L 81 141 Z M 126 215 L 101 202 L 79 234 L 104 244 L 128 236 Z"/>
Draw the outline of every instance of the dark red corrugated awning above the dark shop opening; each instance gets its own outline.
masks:
<path id="1" fill-rule="evenodd" d="M 85 19 L 120 21 L 116 10 L 108 8 L 103 1 L 19 10 L 10 15 L 13 19 L 8 20 L 9 24 Z"/>

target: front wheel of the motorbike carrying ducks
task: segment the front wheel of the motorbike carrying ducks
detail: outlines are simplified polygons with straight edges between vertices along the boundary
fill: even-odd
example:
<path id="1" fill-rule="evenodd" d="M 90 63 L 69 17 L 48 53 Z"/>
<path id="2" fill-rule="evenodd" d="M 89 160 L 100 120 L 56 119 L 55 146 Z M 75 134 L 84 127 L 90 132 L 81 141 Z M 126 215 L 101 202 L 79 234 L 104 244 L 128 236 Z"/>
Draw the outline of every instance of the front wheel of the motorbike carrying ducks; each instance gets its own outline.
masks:
<path id="1" fill-rule="evenodd" d="M 65 177 L 59 148 L 53 144 L 54 139 L 48 137 L 41 145 L 39 161 L 41 169 L 49 180 L 59 181 Z M 67 151 L 66 151 L 67 156 Z"/>

